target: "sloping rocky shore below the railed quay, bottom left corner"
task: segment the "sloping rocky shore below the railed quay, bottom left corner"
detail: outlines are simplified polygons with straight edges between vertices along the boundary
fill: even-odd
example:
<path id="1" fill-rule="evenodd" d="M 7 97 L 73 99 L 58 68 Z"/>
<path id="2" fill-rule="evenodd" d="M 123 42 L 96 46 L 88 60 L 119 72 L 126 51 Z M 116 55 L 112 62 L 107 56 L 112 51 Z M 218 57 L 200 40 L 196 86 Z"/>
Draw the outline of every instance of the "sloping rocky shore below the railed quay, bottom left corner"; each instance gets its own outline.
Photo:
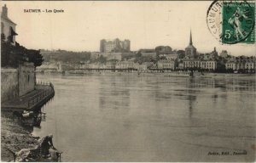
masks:
<path id="1" fill-rule="evenodd" d="M 31 134 L 32 127 L 20 126 L 8 116 L 1 117 L 1 160 L 14 161 L 14 155 L 8 150 L 18 152 L 20 149 L 34 148 L 38 144 L 38 137 Z M 8 149 L 7 149 L 8 148 Z"/>

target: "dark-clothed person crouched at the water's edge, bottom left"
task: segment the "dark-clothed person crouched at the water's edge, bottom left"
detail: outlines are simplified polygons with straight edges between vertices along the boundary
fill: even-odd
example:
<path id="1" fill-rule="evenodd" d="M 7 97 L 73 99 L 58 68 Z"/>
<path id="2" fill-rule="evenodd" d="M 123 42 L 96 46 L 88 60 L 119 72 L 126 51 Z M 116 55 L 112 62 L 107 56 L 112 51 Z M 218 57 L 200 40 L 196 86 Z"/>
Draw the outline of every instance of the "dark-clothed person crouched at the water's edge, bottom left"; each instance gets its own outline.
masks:
<path id="1" fill-rule="evenodd" d="M 55 149 L 53 142 L 52 142 L 53 134 L 49 134 L 48 136 L 42 138 L 42 140 L 39 143 L 39 147 L 41 149 L 41 154 L 43 156 L 49 155 L 49 149 Z"/>

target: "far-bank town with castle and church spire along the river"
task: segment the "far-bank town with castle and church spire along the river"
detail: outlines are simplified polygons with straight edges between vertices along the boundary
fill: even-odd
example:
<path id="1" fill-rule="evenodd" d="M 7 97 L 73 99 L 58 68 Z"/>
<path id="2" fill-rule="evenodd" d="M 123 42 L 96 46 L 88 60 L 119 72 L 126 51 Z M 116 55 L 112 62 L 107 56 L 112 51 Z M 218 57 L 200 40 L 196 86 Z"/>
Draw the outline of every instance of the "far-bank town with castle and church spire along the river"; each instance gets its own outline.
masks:
<path id="1" fill-rule="evenodd" d="M 102 42 L 114 44 L 113 50 L 102 50 Z M 113 43 L 114 42 L 114 43 Z M 177 52 L 172 51 L 170 47 L 160 46 L 158 52 L 156 49 L 140 49 L 137 52 L 130 51 L 130 41 L 124 42 L 129 44 L 126 50 L 120 48 L 121 41 L 115 39 L 113 41 L 101 41 L 101 52 L 92 53 L 92 57 L 99 57 L 100 55 L 107 57 L 108 61 L 105 64 L 101 63 L 80 63 L 73 66 L 73 69 L 78 70 L 142 70 L 142 71 L 169 71 L 169 70 L 201 70 L 201 71 L 218 71 L 224 69 L 225 72 L 255 72 L 255 57 L 247 56 L 231 56 L 227 51 L 222 51 L 219 55 L 216 48 L 211 53 L 197 53 L 197 49 L 192 42 L 192 34 L 190 31 L 189 46 L 184 49 L 184 56 L 178 56 Z M 122 42 L 122 44 L 125 44 Z M 104 44 L 106 46 L 106 44 Z M 123 46 L 124 47 L 124 46 Z M 128 48 L 129 47 L 129 48 Z M 136 53 L 140 53 L 142 57 L 154 59 L 154 61 L 147 61 L 143 63 L 135 62 Z M 130 59 L 123 59 L 125 56 L 131 56 Z M 157 58 L 158 55 L 158 59 Z M 114 61 L 113 61 L 114 60 Z M 65 69 L 65 68 L 64 68 Z"/>

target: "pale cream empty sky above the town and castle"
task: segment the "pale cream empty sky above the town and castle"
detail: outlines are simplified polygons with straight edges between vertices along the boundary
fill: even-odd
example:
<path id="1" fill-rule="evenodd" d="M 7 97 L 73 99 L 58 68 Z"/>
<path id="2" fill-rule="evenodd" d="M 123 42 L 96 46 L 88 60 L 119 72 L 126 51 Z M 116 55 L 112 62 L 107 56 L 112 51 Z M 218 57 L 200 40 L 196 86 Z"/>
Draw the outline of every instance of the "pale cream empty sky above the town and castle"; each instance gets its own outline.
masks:
<path id="1" fill-rule="evenodd" d="M 100 40 L 129 39 L 131 50 L 170 46 L 184 49 L 189 31 L 198 52 L 255 55 L 255 44 L 223 45 L 207 28 L 208 1 L 20 1 L 3 2 L 13 20 L 16 41 L 26 48 L 99 51 Z M 2 9 L 2 8 L 1 8 Z M 25 13 L 24 9 L 64 13 Z"/>

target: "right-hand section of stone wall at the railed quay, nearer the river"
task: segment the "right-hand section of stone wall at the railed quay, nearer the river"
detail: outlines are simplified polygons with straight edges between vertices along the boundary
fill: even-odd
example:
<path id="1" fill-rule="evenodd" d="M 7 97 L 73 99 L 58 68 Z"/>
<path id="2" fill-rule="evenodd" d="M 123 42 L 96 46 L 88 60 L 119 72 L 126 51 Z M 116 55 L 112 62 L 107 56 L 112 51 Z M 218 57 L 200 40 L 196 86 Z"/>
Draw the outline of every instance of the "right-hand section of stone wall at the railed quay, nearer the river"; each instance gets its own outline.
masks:
<path id="1" fill-rule="evenodd" d="M 19 96 L 35 89 L 35 68 L 32 63 L 19 65 Z"/>

